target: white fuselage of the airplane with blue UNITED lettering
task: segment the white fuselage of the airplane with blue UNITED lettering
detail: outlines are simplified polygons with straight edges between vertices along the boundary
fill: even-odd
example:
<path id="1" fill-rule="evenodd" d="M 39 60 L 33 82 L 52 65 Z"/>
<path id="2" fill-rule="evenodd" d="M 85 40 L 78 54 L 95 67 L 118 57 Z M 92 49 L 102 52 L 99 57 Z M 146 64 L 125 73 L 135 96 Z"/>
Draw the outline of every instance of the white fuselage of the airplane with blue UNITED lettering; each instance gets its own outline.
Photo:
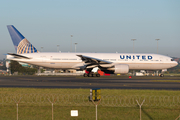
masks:
<path id="1" fill-rule="evenodd" d="M 20 54 L 30 59 L 14 58 L 7 55 L 7 59 L 29 63 L 48 68 L 78 69 L 86 65 L 77 55 L 98 58 L 109 61 L 112 65 L 127 64 L 132 70 L 160 70 L 177 65 L 171 57 L 159 54 L 142 53 L 28 53 Z"/>

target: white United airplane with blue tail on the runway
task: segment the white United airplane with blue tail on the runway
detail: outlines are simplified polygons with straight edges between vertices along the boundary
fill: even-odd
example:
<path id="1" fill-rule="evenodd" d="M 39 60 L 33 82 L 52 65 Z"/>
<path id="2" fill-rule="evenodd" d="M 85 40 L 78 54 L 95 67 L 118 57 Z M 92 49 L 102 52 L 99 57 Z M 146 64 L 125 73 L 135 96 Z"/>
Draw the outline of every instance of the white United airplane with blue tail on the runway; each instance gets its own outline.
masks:
<path id="1" fill-rule="evenodd" d="M 91 72 L 96 67 L 105 73 L 127 74 L 129 70 L 166 71 L 178 65 L 173 58 L 160 54 L 39 52 L 13 25 L 7 28 L 16 50 L 8 53 L 7 59 L 46 68 L 86 70 L 84 77 L 99 77 Z"/>

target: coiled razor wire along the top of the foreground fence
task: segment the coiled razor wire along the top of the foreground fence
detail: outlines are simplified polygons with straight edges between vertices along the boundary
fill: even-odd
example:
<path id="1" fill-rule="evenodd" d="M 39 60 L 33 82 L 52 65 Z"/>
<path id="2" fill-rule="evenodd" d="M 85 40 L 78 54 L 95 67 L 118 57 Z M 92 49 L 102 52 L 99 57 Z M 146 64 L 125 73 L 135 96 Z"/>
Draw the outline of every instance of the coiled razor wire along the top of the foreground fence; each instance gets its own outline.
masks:
<path id="1" fill-rule="evenodd" d="M 66 106 L 91 106 L 89 95 L 82 94 L 1 94 L 0 104 L 14 104 L 14 101 L 21 99 L 21 104 L 49 104 L 49 100 L 56 100 L 57 105 Z M 135 107 L 137 100 L 145 100 L 146 107 L 174 107 L 180 106 L 180 96 L 101 96 L 101 106 Z"/>

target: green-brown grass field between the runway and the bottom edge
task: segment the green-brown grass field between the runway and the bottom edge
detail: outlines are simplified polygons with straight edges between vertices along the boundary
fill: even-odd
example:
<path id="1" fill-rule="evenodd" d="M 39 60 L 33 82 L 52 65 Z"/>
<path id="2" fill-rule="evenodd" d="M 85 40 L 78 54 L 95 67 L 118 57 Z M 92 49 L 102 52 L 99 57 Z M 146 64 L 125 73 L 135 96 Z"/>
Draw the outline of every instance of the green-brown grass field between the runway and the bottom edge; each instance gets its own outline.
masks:
<path id="1" fill-rule="evenodd" d="M 53 95 L 58 96 L 54 103 L 54 120 L 95 119 L 95 106 L 87 98 L 89 89 L 1 88 L 0 95 L 0 119 L 3 120 L 16 119 L 17 107 L 12 99 L 18 100 L 20 97 L 22 100 L 18 105 L 19 120 L 50 120 L 52 119 L 52 104 L 47 98 L 53 100 Z M 144 99 L 143 97 L 140 99 L 141 96 L 146 96 L 142 106 L 143 120 L 170 120 L 177 118 L 180 114 L 180 91 L 101 89 L 101 96 L 102 101 L 98 105 L 98 120 L 138 120 L 139 106 L 136 102 L 128 107 L 119 106 L 120 103 L 130 104 L 136 98 L 133 96 L 138 96 L 139 102 Z M 120 103 L 117 103 L 117 100 L 120 100 L 118 96 L 123 100 Z M 78 110 L 79 116 L 71 117 L 70 110 Z"/>

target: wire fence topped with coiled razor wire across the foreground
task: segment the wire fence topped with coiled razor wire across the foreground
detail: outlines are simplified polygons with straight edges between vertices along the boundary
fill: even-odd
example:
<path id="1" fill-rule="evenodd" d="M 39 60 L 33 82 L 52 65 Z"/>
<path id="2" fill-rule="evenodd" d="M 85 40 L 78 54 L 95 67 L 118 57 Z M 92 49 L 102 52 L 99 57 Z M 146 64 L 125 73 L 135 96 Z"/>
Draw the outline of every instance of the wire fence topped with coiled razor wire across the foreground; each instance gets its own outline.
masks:
<path id="1" fill-rule="evenodd" d="M 180 114 L 180 96 L 102 95 L 100 103 L 96 106 L 97 101 L 93 104 L 89 95 L 83 94 L 1 94 L 0 104 L 0 118 L 4 119 L 75 119 L 69 117 L 72 109 L 78 109 L 79 119 L 83 120 L 168 120 L 175 119 Z M 6 115 L 7 112 L 10 116 Z"/>

